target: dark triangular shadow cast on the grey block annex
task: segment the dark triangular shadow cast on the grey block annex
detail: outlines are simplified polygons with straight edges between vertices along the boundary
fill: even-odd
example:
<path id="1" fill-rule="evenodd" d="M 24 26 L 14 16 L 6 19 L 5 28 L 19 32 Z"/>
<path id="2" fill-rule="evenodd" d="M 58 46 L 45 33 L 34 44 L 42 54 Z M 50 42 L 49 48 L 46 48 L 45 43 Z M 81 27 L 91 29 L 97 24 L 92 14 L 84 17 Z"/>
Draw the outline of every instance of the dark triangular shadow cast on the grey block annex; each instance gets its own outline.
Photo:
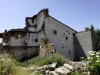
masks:
<path id="1" fill-rule="evenodd" d="M 75 61 L 80 60 L 81 57 L 84 58 L 87 57 L 76 35 L 74 35 L 74 51 L 75 51 L 75 59 L 74 59 Z"/>

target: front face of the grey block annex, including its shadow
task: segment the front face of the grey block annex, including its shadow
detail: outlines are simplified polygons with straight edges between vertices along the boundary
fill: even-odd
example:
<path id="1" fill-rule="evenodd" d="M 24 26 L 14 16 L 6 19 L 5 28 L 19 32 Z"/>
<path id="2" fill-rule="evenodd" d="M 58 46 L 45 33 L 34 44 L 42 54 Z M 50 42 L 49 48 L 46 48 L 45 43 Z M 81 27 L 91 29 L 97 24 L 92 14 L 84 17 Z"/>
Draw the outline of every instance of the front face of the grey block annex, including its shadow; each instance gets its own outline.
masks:
<path id="1" fill-rule="evenodd" d="M 74 35 L 75 57 L 87 57 L 88 51 L 93 50 L 91 32 L 80 32 Z"/>

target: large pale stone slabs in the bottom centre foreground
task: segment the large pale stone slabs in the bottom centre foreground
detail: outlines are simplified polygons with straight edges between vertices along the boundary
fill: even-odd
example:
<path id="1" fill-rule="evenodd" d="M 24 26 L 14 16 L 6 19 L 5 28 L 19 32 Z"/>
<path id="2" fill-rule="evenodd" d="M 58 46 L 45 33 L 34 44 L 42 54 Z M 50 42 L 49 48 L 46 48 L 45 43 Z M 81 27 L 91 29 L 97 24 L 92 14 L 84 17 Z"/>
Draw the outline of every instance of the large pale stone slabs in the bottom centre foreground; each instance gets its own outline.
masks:
<path id="1" fill-rule="evenodd" d="M 66 63 L 58 68 L 56 68 L 56 65 L 57 63 L 44 65 L 42 67 L 38 67 L 37 70 L 42 72 L 44 75 L 67 75 L 74 70 L 71 65 Z"/>

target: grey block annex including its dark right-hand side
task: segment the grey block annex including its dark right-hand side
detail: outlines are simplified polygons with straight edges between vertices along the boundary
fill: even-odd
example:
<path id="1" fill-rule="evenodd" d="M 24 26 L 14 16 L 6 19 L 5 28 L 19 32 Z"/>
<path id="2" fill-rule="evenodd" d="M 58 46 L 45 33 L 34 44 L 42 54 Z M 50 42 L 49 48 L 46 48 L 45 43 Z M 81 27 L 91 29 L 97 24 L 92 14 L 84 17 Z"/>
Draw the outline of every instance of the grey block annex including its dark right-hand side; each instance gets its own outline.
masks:
<path id="1" fill-rule="evenodd" d="M 79 32 L 74 35 L 74 49 L 76 59 L 79 59 L 80 57 L 86 58 L 89 51 L 96 50 L 96 45 L 99 41 L 100 37 L 91 31 Z"/>

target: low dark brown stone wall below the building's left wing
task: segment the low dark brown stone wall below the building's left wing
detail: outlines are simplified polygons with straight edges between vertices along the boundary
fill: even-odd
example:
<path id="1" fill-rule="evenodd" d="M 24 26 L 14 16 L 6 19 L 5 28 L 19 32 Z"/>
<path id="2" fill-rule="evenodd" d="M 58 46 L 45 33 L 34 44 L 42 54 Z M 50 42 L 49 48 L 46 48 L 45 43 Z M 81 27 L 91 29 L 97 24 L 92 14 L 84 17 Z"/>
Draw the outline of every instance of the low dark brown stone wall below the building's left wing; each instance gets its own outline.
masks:
<path id="1" fill-rule="evenodd" d="M 11 47 L 8 51 L 17 60 L 26 60 L 27 58 L 39 54 L 39 47 Z"/>

